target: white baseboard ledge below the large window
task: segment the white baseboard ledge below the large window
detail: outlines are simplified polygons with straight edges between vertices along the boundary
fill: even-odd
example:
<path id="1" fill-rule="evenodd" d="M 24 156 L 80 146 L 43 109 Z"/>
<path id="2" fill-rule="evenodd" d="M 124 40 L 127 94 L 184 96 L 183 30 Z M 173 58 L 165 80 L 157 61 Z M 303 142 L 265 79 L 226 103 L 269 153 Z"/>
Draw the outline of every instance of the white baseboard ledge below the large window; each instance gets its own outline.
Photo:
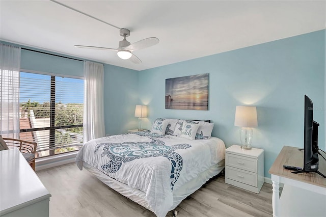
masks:
<path id="1" fill-rule="evenodd" d="M 75 161 L 77 152 L 59 154 L 57 156 L 44 157 L 35 160 L 35 171 L 44 170 L 52 167 L 57 167 L 64 164 L 69 164 Z"/>

